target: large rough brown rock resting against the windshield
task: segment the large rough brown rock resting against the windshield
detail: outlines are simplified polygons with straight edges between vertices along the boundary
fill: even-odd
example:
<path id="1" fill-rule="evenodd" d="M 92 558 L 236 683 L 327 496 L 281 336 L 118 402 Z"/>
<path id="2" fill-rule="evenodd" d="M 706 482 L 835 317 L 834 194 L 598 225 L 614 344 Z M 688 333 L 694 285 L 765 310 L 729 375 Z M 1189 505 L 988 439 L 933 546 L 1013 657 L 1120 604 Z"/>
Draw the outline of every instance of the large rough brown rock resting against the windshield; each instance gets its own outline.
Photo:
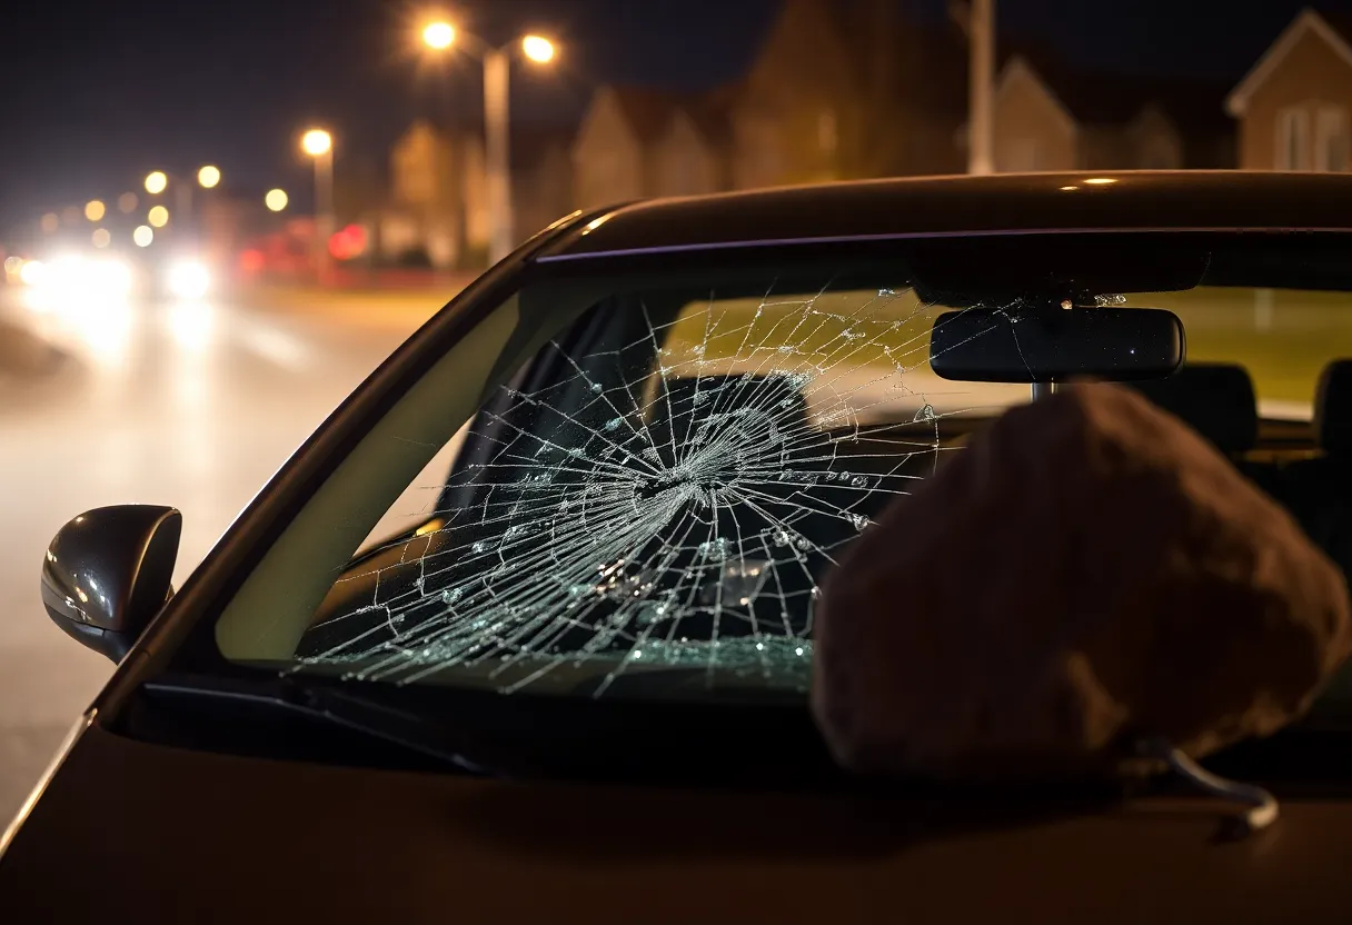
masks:
<path id="1" fill-rule="evenodd" d="M 1115 385 L 1006 412 L 827 579 L 813 710 L 867 772 L 1061 778 L 1299 715 L 1352 646 L 1343 573 L 1178 418 Z"/>

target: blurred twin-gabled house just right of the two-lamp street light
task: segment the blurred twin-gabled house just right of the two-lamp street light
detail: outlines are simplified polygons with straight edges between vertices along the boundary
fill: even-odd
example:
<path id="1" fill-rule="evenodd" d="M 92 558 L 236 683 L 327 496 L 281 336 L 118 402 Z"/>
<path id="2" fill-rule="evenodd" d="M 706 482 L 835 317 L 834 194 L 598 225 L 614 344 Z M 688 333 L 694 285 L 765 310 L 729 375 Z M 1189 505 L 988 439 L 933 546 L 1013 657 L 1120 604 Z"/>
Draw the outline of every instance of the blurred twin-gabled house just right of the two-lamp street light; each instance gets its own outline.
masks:
<path id="1" fill-rule="evenodd" d="M 717 96 L 602 87 L 572 145 L 573 204 L 727 189 L 727 128 Z"/>

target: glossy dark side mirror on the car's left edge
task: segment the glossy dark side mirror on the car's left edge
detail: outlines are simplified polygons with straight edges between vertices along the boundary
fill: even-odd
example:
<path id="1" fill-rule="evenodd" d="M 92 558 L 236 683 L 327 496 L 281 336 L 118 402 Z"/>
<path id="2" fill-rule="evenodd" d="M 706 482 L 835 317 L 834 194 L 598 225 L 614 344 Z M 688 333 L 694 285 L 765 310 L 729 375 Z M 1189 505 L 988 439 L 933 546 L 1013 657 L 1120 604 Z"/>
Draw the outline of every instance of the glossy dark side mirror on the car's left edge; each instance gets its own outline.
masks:
<path id="1" fill-rule="evenodd" d="M 120 661 L 173 594 L 183 514 L 96 507 L 66 523 L 42 563 L 42 604 L 66 634 Z"/>

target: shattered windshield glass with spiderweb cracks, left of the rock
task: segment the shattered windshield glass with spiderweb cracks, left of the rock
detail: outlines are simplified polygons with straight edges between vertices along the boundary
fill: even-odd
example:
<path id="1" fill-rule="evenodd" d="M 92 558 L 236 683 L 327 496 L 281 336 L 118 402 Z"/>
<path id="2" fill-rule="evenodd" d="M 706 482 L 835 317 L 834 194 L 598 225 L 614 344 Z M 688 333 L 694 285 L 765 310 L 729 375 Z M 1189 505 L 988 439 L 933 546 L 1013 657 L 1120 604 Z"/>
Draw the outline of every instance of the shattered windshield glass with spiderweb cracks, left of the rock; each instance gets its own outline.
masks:
<path id="1" fill-rule="evenodd" d="M 1028 395 L 934 377 L 934 315 L 903 285 L 598 306 L 484 404 L 419 536 L 343 573 L 297 668 L 806 690 L 841 549 L 955 449 L 946 418 Z"/>

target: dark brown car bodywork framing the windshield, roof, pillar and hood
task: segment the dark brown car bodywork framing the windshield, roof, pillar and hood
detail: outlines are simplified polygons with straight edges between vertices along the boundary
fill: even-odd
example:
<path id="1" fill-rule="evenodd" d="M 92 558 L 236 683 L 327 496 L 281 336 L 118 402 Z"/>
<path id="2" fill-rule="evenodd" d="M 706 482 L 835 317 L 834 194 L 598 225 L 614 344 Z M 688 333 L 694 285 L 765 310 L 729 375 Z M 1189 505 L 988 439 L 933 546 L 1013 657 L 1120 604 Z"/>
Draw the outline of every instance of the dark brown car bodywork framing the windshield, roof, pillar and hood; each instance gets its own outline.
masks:
<path id="1" fill-rule="evenodd" d="M 448 692 L 446 710 L 470 728 L 465 741 L 500 753 L 489 764 L 506 768 L 458 774 L 438 749 L 408 759 L 418 730 L 384 745 L 320 732 L 312 719 L 360 726 L 375 709 L 341 691 L 311 698 L 279 680 L 269 696 L 291 717 L 268 706 L 251 726 L 238 717 L 257 687 L 231 695 L 178 678 L 210 661 L 191 650 L 192 627 L 239 587 L 346 449 L 526 279 L 688 253 L 848 253 L 904 238 L 1332 238 L 1352 234 L 1349 216 L 1352 180 L 1343 177 L 1122 173 L 869 181 L 561 220 L 399 348 L 164 607 L 0 841 L 0 920 L 1348 921 L 1352 749 L 1337 732 L 1293 740 L 1280 759 L 1267 752 L 1264 774 L 1286 782 L 1282 818 L 1226 840 L 1217 801 L 1186 791 L 1124 799 L 850 782 L 819 748 L 779 736 L 808 729 L 806 709 L 673 706 L 634 733 L 591 706 L 507 709 L 491 695 Z M 157 696 L 172 701 L 169 718 L 138 719 Z M 227 707 L 234 732 L 218 734 L 212 711 Z M 560 744 L 587 761 L 533 763 L 511 737 L 495 738 L 525 729 L 552 741 L 561 728 L 583 730 Z M 683 745 L 676 730 L 694 729 L 702 737 Z M 777 744 L 784 738 L 794 744 Z M 662 768 L 629 767 L 635 749 L 662 756 Z"/>

